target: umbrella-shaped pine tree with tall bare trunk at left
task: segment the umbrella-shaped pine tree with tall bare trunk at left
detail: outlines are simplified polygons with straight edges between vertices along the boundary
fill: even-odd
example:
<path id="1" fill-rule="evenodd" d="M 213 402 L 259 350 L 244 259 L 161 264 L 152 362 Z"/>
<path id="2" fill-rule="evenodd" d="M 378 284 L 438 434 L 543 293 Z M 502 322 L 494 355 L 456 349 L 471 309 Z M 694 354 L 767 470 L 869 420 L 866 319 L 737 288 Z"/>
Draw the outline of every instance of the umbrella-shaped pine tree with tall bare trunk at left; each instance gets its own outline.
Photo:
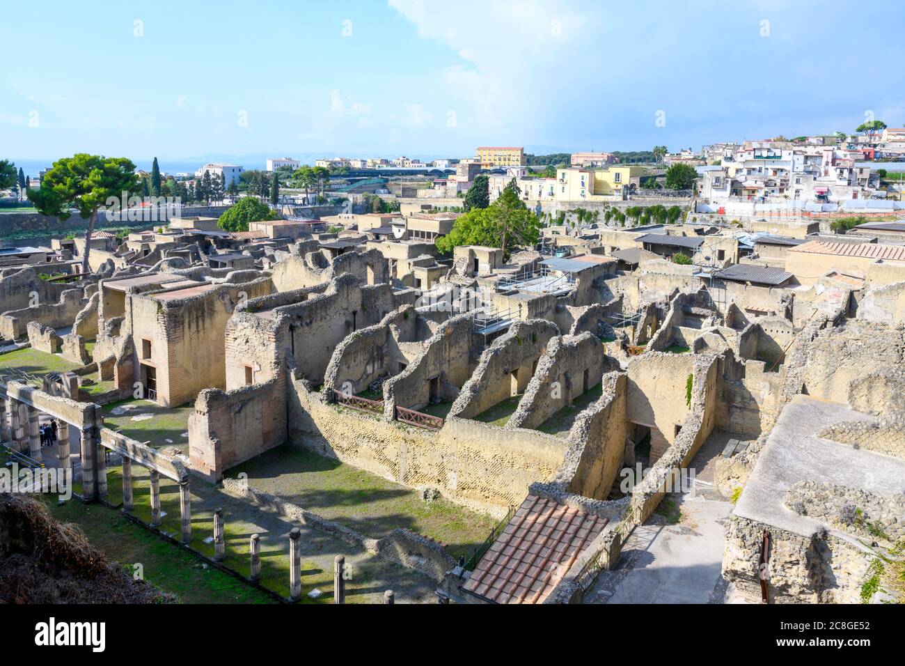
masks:
<path id="1" fill-rule="evenodd" d="M 119 199 L 138 191 L 135 165 L 126 158 L 105 158 L 100 155 L 78 153 L 71 158 L 58 159 L 41 179 L 41 187 L 30 189 L 28 198 L 42 215 L 69 219 L 75 208 L 88 220 L 85 229 L 85 256 L 81 272 L 89 273 L 88 256 L 91 233 L 98 220 L 98 211 L 110 198 Z"/>

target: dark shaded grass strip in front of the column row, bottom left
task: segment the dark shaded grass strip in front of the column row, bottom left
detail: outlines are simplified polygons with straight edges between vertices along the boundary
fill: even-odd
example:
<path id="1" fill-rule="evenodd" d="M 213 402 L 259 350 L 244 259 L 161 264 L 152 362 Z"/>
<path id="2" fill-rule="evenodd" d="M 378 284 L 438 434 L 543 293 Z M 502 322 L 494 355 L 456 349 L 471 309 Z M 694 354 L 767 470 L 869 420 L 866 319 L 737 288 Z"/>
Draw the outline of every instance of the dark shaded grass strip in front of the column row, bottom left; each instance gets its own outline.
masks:
<path id="1" fill-rule="evenodd" d="M 45 499 L 53 517 L 79 526 L 91 545 L 130 571 L 142 565 L 145 580 L 176 594 L 183 603 L 273 603 L 267 594 L 233 576 L 210 566 L 205 569 L 195 555 L 135 525 L 119 511 L 77 499 L 62 506 L 51 497 Z"/>

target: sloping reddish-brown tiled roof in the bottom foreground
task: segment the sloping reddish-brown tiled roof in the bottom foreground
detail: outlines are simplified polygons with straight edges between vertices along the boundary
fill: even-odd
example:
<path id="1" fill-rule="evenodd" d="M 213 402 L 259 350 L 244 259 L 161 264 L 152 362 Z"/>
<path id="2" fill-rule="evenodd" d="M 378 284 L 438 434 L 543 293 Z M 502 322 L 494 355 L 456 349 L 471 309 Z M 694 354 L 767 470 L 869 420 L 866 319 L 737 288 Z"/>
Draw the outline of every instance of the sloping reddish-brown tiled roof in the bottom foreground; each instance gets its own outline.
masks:
<path id="1" fill-rule="evenodd" d="M 607 522 L 529 495 L 462 589 L 494 603 L 542 603 Z"/>

